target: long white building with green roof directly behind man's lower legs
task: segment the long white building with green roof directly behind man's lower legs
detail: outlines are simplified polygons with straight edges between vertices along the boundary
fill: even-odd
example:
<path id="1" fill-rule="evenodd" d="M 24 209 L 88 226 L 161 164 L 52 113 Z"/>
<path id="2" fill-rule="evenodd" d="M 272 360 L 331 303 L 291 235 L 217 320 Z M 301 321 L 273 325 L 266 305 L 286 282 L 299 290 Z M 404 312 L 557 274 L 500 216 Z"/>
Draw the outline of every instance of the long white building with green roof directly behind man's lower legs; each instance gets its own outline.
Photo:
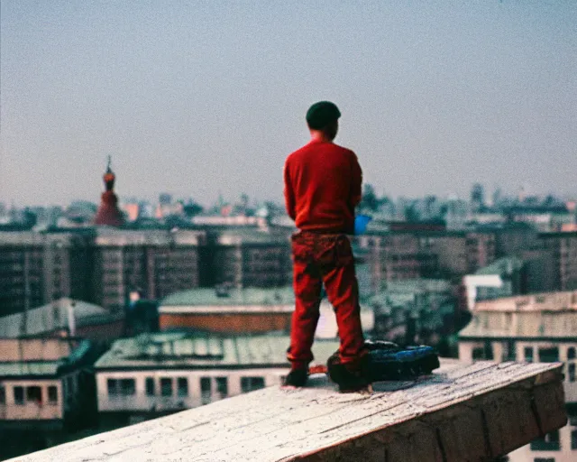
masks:
<path id="1" fill-rule="evenodd" d="M 283 335 L 143 334 L 114 342 L 96 362 L 98 411 L 133 422 L 279 385 L 289 372 Z M 317 340 L 326 361 L 336 340 Z"/>

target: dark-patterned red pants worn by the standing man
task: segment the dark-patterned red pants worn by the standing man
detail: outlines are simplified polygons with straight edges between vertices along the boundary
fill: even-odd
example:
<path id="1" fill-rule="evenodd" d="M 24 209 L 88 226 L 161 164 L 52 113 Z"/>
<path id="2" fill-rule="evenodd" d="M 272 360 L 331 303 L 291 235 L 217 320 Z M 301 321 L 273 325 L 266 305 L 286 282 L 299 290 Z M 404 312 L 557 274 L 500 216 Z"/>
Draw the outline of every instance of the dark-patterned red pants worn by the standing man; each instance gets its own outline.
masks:
<path id="1" fill-rule="evenodd" d="M 292 236 L 292 254 L 296 309 L 292 315 L 287 355 L 292 367 L 307 367 L 313 360 L 311 347 L 324 282 L 326 295 L 336 315 L 341 362 L 356 369 L 366 351 L 363 347 L 359 286 L 349 238 L 300 232 Z"/>

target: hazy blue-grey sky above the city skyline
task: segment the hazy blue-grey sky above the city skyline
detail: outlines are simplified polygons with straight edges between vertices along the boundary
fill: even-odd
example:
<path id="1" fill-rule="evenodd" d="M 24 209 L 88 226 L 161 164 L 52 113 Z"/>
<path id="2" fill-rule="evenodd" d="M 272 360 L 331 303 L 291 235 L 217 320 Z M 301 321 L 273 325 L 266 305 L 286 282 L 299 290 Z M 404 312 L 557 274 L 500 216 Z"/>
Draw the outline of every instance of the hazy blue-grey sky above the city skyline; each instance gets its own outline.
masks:
<path id="1" fill-rule="evenodd" d="M 1 2 L 0 201 L 282 198 L 319 99 L 378 193 L 577 197 L 577 2 Z"/>

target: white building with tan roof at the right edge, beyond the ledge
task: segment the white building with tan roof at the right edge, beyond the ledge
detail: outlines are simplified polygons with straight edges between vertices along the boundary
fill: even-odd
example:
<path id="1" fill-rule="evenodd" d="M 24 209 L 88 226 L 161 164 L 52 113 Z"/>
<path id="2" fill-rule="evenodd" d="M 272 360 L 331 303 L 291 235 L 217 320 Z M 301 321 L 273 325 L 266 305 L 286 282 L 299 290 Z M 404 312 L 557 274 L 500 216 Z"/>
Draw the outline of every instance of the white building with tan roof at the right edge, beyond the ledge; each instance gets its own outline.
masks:
<path id="1" fill-rule="evenodd" d="M 577 291 L 479 301 L 459 333 L 459 359 L 562 361 L 570 421 L 509 454 L 510 462 L 577 460 Z"/>

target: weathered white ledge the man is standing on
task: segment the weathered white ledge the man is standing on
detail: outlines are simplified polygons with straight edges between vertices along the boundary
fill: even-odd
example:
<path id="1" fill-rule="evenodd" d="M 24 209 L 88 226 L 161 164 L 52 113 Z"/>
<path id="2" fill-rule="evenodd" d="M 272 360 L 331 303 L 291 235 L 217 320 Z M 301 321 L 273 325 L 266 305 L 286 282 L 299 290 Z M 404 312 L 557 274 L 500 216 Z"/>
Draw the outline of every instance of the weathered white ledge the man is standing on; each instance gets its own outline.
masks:
<path id="1" fill-rule="evenodd" d="M 13 461 L 488 461 L 563 427 L 561 364 L 444 364 L 339 394 L 271 387 Z"/>

